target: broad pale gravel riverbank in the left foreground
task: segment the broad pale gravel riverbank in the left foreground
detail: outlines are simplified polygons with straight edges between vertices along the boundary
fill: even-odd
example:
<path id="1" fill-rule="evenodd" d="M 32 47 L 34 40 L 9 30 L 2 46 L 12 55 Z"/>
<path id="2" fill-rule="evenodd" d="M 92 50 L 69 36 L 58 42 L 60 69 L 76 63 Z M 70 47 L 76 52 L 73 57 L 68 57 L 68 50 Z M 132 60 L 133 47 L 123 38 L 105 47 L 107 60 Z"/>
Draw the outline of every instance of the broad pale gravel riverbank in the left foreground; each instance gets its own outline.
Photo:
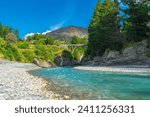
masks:
<path id="1" fill-rule="evenodd" d="M 57 99 L 49 91 L 50 83 L 32 76 L 30 70 L 39 69 L 34 64 L 0 60 L 0 100 L 52 100 Z"/>

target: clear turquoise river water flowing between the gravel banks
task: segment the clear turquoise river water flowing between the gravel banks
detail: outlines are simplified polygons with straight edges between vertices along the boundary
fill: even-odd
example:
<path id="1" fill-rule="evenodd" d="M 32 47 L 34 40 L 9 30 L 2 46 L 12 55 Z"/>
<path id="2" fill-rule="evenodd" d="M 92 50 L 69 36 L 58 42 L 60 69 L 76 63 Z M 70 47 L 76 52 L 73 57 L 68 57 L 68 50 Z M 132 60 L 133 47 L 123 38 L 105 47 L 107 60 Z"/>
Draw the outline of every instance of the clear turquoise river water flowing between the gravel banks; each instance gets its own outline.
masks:
<path id="1" fill-rule="evenodd" d="M 53 82 L 51 90 L 72 99 L 150 100 L 150 74 L 127 74 L 58 67 L 32 71 Z"/>

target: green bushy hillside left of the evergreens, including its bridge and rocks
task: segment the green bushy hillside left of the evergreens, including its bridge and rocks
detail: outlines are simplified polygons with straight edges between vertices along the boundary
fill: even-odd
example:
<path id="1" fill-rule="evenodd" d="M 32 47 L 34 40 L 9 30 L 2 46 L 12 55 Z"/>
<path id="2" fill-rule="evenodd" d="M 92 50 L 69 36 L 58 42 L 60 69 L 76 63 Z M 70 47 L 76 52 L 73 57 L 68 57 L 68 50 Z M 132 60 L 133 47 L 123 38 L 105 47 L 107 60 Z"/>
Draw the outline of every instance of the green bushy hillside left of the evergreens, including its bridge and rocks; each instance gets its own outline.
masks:
<path id="1" fill-rule="evenodd" d="M 19 39 L 18 35 L 18 30 L 0 25 L 0 58 L 50 67 L 55 61 L 59 66 L 79 64 L 86 51 L 83 46 L 75 46 L 86 45 L 86 38 L 70 37 L 70 41 L 60 41 L 42 34 L 26 39 Z"/>

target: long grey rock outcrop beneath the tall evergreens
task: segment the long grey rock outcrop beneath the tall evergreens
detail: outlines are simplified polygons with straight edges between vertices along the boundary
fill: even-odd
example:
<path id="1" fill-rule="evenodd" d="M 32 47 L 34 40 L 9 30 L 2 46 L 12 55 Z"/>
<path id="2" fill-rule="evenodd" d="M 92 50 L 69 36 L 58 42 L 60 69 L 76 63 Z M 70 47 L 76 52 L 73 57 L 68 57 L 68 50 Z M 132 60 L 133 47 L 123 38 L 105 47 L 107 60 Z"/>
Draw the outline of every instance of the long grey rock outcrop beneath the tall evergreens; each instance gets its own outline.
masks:
<path id="1" fill-rule="evenodd" d="M 148 42 L 144 40 L 122 49 L 121 53 L 119 51 L 106 50 L 102 57 L 96 56 L 93 60 L 84 58 L 82 64 L 92 66 L 150 66 L 150 58 L 146 56 L 146 52 L 149 51 Z"/>

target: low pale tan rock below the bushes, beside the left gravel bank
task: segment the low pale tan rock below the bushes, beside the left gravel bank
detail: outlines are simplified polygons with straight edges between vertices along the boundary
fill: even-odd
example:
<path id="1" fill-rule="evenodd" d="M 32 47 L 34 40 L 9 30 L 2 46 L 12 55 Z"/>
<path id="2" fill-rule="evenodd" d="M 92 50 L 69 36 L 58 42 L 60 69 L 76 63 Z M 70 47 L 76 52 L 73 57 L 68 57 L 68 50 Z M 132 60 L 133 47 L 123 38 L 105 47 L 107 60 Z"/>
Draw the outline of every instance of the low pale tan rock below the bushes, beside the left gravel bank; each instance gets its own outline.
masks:
<path id="1" fill-rule="evenodd" d="M 42 68 L 56 67 L 56 65 L 51 61 L 41 61 L 37 58 L 34 59 L 33 63 Z"/>

